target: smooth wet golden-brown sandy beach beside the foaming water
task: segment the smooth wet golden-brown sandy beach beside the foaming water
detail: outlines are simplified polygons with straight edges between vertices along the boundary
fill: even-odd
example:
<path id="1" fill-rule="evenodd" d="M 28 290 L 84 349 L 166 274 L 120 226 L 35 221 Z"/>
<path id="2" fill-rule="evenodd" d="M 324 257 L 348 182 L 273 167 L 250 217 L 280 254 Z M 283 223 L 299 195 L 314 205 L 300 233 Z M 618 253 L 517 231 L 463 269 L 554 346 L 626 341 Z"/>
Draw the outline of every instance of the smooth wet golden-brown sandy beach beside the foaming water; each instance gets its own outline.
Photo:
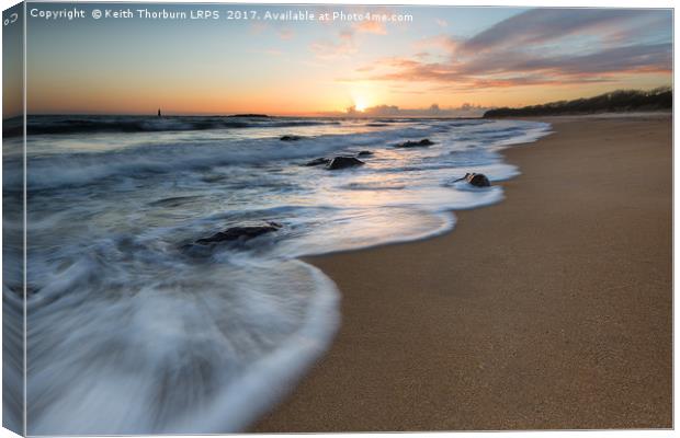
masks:
<path id="1" fill-rule="evenodd" d="M 671 117 L 545 120 L 505 201 L 310 261 L 341 328 L 251 431 L 672 426 Z"/>

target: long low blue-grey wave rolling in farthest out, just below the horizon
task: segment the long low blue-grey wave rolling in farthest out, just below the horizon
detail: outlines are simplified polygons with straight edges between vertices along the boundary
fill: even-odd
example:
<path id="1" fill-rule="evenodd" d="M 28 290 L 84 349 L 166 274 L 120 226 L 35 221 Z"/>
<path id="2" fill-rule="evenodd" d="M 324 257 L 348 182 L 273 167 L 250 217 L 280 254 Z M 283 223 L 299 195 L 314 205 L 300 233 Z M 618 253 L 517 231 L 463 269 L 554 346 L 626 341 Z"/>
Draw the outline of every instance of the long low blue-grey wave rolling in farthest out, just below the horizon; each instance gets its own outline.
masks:
<path id="1" fill-rule="evenodd" d="M 307 122 L 305 122 L 307 123 Z M 364 149 L 388 148 L 403 139 L 437 134 L 405 127 L 362 134 L 328 134 L 280 141 L 277 137 L 220 141 L 183 141 L 148 143 L 101 152 L 59 154 L 29 153 L 26 185 L 31 189 L 57 188 L 87 184 L 105 184 L 111 177 L 147 178 L 155 174 L 190 170 L 209 170 L 224 165 L 261 165 L 272 161 L 304 160 L 343 151 L 356 153 Z M 42 140 L 32 139 L 32 142 Z M 114 139 L 112 139 L 114 141 Z M 32 145 L 31 145 L 32 146 Z M 31 151 L 31 148 L 29 148 Z M 5 182 L 9 186 L 23 183 L 21 157 L 8 157 Z M 301 161 L 301 163 L 303 163 Z"/>

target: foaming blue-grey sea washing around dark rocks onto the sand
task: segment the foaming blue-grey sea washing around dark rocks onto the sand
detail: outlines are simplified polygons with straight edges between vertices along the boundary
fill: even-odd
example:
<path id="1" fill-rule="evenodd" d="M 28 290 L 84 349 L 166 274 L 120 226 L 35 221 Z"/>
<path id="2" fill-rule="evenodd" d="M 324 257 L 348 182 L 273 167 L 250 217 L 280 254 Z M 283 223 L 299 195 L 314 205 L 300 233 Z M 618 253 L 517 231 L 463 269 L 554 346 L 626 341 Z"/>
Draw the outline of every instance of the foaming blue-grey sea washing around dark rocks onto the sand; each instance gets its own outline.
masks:
<path id="1" fill-rule="evenodd" d="M 341 324 L 342 291 L 302 257 L 454 230 L 455 210 L 501 201 L 497 183 L 520 174 L 499 152 L 551 126 L 30 116 L 27 131 L 27 433 L 117 435 L 247 428 Z M 397 147 L 426 138 L 433 145 Z M 360 152 L 363 165 L 305 165 Z M 3 155 L 8 355 L 23 335 L 20 136 Z M 456 181 L 467 172 L 492 186 Z M 264 222 L 280 228 L 196 243 Z"/>

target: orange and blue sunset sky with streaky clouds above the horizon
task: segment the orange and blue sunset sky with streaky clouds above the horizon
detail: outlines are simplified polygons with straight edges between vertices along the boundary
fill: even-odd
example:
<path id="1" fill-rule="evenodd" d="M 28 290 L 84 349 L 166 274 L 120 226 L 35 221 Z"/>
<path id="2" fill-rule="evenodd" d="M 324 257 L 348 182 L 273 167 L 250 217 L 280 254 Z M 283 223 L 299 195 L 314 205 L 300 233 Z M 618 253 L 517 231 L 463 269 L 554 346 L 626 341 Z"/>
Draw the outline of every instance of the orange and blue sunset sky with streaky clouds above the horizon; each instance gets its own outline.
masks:
<path id="1" fill-rule="evenodd" d="M 455 116 L 672 78 L 670 10 L 77 5 L 87 18 L 27 19 L 31 114 Z M 64 8 L 29 3 L 29 12 Z M 135 18 L 94 20 L 94 8 Z M 145 8 L 220 18 L 143 20 Z M 260 20 L 227 20 L 228 9 Z M 268 11 L 316 20 L 267 20 Z M 319 21 L 326 12 L 403 21 Z"/>

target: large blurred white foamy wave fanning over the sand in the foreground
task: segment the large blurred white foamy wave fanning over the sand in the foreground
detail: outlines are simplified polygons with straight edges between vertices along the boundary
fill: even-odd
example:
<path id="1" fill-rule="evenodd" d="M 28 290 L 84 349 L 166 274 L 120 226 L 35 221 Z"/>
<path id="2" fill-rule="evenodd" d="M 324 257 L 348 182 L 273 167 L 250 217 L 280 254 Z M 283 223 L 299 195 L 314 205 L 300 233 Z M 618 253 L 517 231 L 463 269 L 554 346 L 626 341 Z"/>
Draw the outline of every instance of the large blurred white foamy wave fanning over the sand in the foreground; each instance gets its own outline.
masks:
<path id="1" fill-rule="evenodd" d="M 196 266 L 137 239 L 59 258 L 30 276 L 43 285 L 27 300 L 35 435 L 240 430 L 339 323 L 332 281 L 294 260 Z"/>

